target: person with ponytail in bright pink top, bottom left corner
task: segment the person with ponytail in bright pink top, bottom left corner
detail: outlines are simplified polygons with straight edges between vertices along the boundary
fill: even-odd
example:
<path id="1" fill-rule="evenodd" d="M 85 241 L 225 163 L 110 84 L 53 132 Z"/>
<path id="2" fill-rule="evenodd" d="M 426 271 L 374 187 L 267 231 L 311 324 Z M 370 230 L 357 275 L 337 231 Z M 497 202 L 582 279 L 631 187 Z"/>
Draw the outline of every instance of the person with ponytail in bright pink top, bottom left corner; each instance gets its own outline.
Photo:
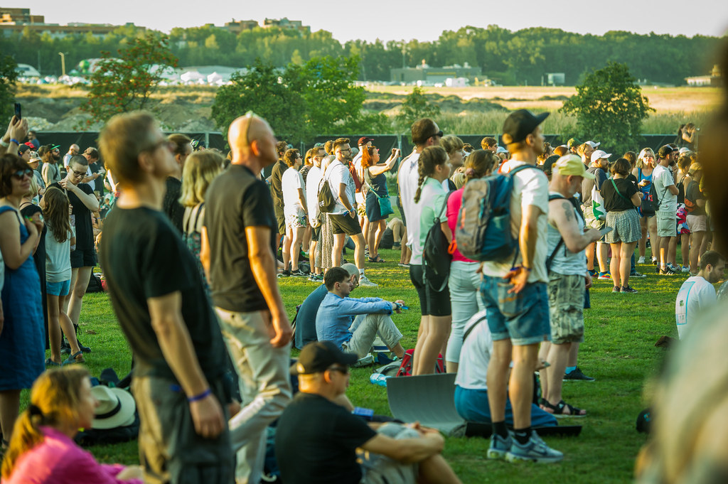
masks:
<path id="1" fill-rule="evenodd" d="M 79 428 L 91 427 L 97 405 L 85 368 L 42 373 L 31 404 L 15 421 L 2 484 L 142 484 L 139 467 L 99 464 L 74 443 Z"/>

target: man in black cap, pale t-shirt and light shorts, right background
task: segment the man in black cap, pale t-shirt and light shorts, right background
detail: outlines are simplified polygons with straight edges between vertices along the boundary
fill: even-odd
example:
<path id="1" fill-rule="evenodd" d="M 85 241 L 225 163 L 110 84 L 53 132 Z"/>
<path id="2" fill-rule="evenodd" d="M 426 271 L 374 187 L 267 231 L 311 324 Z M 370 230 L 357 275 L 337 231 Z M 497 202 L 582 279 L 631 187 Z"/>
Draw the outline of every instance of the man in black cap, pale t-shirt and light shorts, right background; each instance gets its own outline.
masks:
<path id="1" fill-rule="evenodd" d="M 677 250 L 678 188 L 675 186 L 672 167 L 678 150 L 665 145 L 657 151 L 657 166 L 652 172 L 652 183 L 657 191 L 657 236 L 660 249 L 657 255 L 657 273 L 673 275 L 679 272 L 675 266 Z"/>

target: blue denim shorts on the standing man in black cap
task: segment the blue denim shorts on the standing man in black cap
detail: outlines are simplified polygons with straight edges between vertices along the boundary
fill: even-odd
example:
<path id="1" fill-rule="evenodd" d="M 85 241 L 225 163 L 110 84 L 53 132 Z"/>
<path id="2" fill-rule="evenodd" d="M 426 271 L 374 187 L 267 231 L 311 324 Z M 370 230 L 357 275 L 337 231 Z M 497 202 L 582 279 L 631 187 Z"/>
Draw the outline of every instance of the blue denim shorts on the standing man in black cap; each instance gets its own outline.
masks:
<path id="1" fill-rule="evenodd" d="M 551 340 L 548 292 L 545 282 L 529 282 L 518 294 L 502 277 L 483 276 L 480 293 L 486 304 L 493 341 L 510 338 L 515 346 Z"/>

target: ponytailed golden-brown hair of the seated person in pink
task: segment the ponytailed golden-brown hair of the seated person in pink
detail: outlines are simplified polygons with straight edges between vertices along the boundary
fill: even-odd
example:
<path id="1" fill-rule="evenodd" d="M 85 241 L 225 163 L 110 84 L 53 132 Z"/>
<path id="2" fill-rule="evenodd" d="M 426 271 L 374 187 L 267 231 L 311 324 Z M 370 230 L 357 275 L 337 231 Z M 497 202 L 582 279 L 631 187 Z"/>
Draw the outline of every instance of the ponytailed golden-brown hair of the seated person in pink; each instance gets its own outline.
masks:
<path id="1" fill-rule="evenodd" d="M 79 421 L 81 384 L 89 372 L 82 366 L 46 370 L 33 383 L 31 402 L 17 417 L 10 445 L 2 462 L 2 477 L 9 479 L 23 453 L 43 441 L 41 426 L 75 425 Z"/>

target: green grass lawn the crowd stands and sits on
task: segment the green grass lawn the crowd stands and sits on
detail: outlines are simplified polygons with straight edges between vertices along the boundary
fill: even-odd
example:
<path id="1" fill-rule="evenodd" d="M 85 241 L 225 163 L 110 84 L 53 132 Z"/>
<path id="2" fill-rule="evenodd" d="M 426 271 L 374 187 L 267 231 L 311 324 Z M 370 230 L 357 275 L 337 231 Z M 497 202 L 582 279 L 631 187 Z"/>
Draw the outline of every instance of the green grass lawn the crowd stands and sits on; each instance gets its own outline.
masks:
<path id="1" fill-rule="evenodd" d="M 368 276 L 379 288 L 360 287 L 353 295 L 378 295 L 402 298 L 410 310 L 395 315 L 404 335 L 403 346 L 414 347 L 419 325 L 419 304 L 406 269 L 397 266 L 399 252 L 381 250 L 387 263 L 370 264 Z M 678 250 L 678 256 L 680 251 Z M 344 257 L 352 258 L 352 252 Z M 649 258 L 648 258 L 649 260 Z M 634 459 L 644 435 L 635 430 L 636 416 L 646 407 L 643 386 L 660 365 L 664 352 L 654 346 L 662 335 L 676 337 L 674 301 L 684 277 L 658 277 L 653 266 L 638 266 L 648 276 L 633 279 L 636 295 L 612 294 L 611 281 L 595 281 L 592 308 L 585 312 L 586 341 L 581 346 L 579 367 L 593 383 L 570 382 L 563 386 L 563 397 L 589 412 L 579 419 L 584 426 L 579 437 L 550 437 L 547 443 L 563 451 L 561 464 L 547 466 L 512 465 L 485 459 L 488 441 L 482 438 L 448 437 L 445 456 L 464 483 L 624 483 L 631 480 Z M 282 279 L 280 289 L 289 317 L 296 304 L 315 285 L 303 279 Z M 98 376 L 103 368 L 113 367 L 119 376 L 130 368 L 130 351 L 108 295 L 87 295 L 82 310 L 80 337 L 92 346 L 87 366 Z M 349 397 L 356 405 L 389 414 L 386 389 L 368 382 L 373 368 L 355 368 Z M 27 403 L 24 392 L 23 406 Z M 91 449 L 99 461 L 138 463 L 136 443 L 99 446 Z"/>

